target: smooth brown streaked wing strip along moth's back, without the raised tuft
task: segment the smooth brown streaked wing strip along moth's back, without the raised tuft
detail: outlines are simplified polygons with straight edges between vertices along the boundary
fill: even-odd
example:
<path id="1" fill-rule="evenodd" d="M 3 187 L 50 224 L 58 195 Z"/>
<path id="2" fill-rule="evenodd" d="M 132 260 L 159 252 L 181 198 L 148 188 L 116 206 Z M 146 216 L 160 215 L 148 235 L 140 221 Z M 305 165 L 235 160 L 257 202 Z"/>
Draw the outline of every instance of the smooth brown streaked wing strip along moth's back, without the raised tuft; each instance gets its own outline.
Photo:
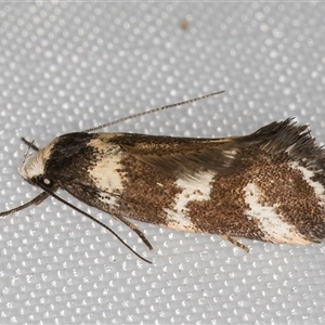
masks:
<path id="1" fill-rule="evenodd" d="M 136 159 L 173 177 L 195 177 L 205 170 L 232 172 L 238 148 L 235 138 L 186 139 L 133 134 L 121 139 L 120 146 Z"/>

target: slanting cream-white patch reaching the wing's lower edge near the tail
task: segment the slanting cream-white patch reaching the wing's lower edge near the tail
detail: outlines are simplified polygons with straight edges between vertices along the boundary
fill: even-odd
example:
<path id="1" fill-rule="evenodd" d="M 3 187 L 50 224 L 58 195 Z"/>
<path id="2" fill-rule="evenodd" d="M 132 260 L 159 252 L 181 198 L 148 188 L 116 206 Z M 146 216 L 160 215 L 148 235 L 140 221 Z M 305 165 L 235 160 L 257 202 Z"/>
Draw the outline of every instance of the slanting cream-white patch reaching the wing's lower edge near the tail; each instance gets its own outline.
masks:
<path id="1" fill-rule="evenodd" d="M 264 206 L 261 204 L 261 190 L 255 183 L 248 183 L 244 187 L 245 203 L 249 206 L 249 209 L 245 210 L 245 214 L 247 218 L 259 221 L 259 227 L 265 235 L 265 239 L 273 243 L 310 243 L 295 225 L 285 222 L 282 216 L 276 212 L 278 205 Z"/>

